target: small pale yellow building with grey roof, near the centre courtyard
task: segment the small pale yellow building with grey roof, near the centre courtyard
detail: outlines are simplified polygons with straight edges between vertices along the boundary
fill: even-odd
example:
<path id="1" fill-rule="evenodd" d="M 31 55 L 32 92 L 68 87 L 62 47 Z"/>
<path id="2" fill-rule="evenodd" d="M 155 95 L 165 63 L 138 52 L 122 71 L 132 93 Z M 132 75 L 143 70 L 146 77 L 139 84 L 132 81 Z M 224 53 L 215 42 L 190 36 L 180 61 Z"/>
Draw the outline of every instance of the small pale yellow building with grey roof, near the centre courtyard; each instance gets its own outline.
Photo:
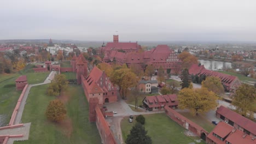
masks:
<path id="1" fill-rule="evenodd" d="M 152 87 L 154 89 L 154 91 L 152 91 Z M 158 93 L 158 89 L 156 91 L 156 88 L 158 87 L 158 81 L 156 80 L 150 80 L 150 81 L 145 81 L 145 80 L 141 80 L 139 81 L 139 91 L 143 92 L 143 93 Z"/>

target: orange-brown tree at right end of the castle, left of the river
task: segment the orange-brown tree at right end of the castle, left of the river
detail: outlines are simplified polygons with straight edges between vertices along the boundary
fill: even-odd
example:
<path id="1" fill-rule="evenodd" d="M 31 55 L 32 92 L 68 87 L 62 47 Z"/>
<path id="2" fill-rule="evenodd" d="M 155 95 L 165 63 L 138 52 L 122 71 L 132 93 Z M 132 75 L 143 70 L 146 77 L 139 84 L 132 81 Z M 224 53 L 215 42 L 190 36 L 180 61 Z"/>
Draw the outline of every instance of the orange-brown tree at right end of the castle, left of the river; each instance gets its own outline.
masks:
<path id="1" fill-rule="evenodd" d="M 192 64 L 198 63 L 197 57 L 191 55 L 188 51 L 183 51 L 181 54 L 178 55 L 178 58 L 181 59 L 183 62 L 183 69 L 189 69 Z"/>

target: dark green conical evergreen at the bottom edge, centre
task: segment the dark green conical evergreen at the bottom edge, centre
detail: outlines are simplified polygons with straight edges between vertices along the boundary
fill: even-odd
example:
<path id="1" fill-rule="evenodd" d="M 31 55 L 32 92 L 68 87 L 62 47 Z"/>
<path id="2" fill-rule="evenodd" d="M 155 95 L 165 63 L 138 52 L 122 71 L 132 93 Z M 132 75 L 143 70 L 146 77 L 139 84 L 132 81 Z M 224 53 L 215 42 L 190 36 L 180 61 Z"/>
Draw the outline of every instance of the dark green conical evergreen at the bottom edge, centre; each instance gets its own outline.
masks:
<path id="1" fill-rule="evenodd" d="M 151 144 L 151 137 L 147 135 L 148 131 L 145 130 L 142 124 L 136 123 L 130 130 L 125 140 L 126 144 Z"/>

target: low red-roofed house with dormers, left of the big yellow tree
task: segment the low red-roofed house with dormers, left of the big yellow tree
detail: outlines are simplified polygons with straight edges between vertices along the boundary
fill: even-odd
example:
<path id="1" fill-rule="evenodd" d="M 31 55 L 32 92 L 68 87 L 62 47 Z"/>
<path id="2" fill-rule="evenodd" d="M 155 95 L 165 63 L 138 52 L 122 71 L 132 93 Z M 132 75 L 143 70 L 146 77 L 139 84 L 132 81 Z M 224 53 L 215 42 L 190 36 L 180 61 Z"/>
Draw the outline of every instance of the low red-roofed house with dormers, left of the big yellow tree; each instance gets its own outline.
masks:
<path id="1" fill-rule="evenodd" d="M 143 105 L 149 111 L 164 109 L 165 106 L 177 108 L 178 99 L 176 94 L 147 96 L 143 99 Z"/>

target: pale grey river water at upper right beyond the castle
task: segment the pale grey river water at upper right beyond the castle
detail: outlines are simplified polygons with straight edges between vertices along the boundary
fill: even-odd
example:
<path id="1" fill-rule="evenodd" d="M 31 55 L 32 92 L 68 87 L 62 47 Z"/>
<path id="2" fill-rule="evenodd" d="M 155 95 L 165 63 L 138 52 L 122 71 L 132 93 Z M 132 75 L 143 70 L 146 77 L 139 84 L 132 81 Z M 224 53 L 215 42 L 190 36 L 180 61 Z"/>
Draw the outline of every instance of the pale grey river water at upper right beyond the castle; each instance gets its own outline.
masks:
<path id="1" fill-rule="evenodd" d="M 220 61 L 208 61 L 208 60 L 203 60 L 199 59 L 200 63 L 205 66 L 206 69 L 209 70 L 220 70 L 223 68 L 231 68 L 231 63 L 230 62 L 220 62 Z"/>

